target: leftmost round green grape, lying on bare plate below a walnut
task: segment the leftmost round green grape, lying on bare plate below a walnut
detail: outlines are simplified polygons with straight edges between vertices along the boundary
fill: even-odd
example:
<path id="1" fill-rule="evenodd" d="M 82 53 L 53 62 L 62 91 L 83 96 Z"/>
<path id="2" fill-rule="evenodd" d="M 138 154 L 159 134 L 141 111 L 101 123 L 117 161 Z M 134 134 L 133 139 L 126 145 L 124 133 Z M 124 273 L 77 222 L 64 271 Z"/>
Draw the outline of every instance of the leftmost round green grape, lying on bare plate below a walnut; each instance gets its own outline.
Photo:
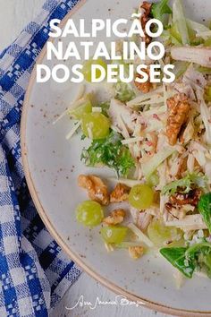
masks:
<path id="1" fill-rule="evenodd" d="M 77 207 L 76 218 L 84 226 L 95 227 L 104 218 L 104 211 L 97 201 L 83 201 Z"/>

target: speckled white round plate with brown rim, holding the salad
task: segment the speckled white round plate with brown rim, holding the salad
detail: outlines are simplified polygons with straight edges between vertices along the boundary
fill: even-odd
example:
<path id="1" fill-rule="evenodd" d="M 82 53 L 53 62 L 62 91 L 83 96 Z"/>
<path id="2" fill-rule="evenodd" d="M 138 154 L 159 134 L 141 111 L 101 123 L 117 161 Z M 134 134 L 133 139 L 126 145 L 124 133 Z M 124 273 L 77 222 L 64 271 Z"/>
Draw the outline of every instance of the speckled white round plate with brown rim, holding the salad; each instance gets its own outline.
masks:
<path id="1" fill-rule="evenodd" d="M 186 14 L 192 19 L 210 18 L 210 0 L 186 0 L 184 3 Z M 116 20 L 129 18 L 138 4 L 138 0 L 87 0 L 80 3 L 80 10 L 77 10 L 78 6 L 71 14 L 74 21 L 80 18 L 90 21 L 93 17 Z M 67 43 L 70 39 L 62 40 Z M 46 61 L 45 49 L 38 63 L 42 59 L 44 64 L 51 64 Z M 146 255 L 139 261 L 132 261 L 126 251 L 108 254 L 99 237 L 99 228 L 90 230 L 76 222 L 75 207 L 86 199 L 86 193 L 77 186 L 79 174 L 94 171 L 98 175 L 112 176 L 111 171 L 90 170 L 80 163 L 80 136 L 74 136 L 72 141 L 66 141 L 64 137 L 70 131 L 68 118 L 52 124 L 55 116 L 70 104 L 77 89 L 78 86 L 70 82 L 38 84 L 34 72 L 24 102 L 22 158 L 30 193 L 46 227 L 83 270 L 114 292 L 165 313 L 211 315 L 209 279 L 195 277 L 178 290 L 174 284 L 173 267 L 165 259 Z"/>

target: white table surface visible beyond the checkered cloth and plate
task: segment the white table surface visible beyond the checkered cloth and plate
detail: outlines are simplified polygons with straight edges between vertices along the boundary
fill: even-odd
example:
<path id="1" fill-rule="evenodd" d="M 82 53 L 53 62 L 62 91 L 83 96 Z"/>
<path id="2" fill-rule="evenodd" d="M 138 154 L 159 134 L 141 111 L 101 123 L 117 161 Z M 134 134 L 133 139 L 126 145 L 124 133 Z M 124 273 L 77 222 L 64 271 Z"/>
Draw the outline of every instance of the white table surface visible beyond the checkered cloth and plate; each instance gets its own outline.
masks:
<path id="1" fill-rule="evenodd" d="M 9 45 L 18 36 L 23 26 L 33 19 L 38 13 L 39 8 L 44 0 L 0 0 L 0 51 Z M 82 297 L 81 297 L 82 296 Z M 93 306 L 97 301 L 108 302 L 114 301 L 115 294 L 107 288 L 100 285 L 86 273 L 82 273 L 78 281 L 68 290 L 62 301 L 57 305 L 55 310 L 50 314 L 51 317 L 165 317 L 162 313 L 149 311 L 147 308 L 135 307 L 134 305 L 114 305 L 100 304 L 95 309 L 90 309 L 85 302 L 90 302 Z M 76 305 L 82 298 L 84 304 L 78 305 L 74 310 L 68 310 Z"/>

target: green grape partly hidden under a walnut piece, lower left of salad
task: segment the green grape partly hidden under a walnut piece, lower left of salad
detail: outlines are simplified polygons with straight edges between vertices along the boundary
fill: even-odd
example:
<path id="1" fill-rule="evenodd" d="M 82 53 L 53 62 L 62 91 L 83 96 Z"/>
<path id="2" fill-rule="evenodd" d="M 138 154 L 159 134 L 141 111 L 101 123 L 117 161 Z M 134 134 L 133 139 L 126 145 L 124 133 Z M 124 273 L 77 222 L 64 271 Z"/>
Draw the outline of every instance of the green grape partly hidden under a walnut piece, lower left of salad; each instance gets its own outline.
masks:
<path id="1" fill-rule="evenodd" d="M 127 227 L 102 227 L 100 230 L 101 236 L 107 244 L 121 244 L 127 235 Z"/>

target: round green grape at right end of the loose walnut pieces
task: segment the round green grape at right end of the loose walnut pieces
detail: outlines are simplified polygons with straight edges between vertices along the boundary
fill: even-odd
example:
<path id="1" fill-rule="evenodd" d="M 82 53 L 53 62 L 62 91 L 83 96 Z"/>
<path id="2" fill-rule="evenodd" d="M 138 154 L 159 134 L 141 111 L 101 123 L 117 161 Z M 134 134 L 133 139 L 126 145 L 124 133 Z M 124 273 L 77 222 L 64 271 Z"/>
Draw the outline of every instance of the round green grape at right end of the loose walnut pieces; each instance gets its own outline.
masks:
<path id="1" fill-rule="evenodd" d="M 147 184 L 137 184 L 131 188 L 129 202 L 138 210 L 146 210 L 154 200 L 154 192 Z"/>

